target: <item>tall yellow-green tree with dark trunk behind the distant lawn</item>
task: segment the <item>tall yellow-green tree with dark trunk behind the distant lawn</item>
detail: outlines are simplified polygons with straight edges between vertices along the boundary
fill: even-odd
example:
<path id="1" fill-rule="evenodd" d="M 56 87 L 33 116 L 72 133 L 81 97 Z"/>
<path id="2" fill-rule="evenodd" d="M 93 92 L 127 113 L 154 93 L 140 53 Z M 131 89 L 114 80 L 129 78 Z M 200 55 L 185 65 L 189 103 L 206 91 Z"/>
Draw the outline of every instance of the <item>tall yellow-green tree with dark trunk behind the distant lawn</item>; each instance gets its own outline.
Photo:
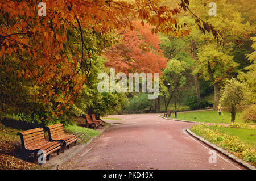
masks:
<path id="1" fill-rule="evenodd" d="M 225 0 L 216 1 L 217 15 L 209 16 L 208 3 L 202 3 L 199 0 L 191 1 L 190 9 L 200 17 L 205 19 L 206 22 L 212 24 L 218 30 L 221 30 L 221 36 L 225 40 L 225 47 L 220 47 L 213 40 L 209 33 L 206 31 L 199 36 L 200 48 L 197 53 L 199 59 L 199 66 L 195 69 L 195 73 L 203 73 L 205 80 L 210 79 L 214 85 L 214 108 L 220 99 L 219 89 L 222 79 L 229 76 L 234 76 L 237 71 L 238 64 L 234 62 L 232 56 L 232 48 L 236 41 L 238 45 L 251 33 L 251 26 L 249 22 L 244 22 L 241 14 L 236 11 L 236 7 L 227 3 Z M 196 22 L 197 23 L 197 22 Z M 197 23 L 199 26 L 205 26 L 204 23 Z M 192 33 L 193 34 L 193 30 Z M 219 40 L 218 41 L 223 41 Z M 208 75 L 207 75 L 208 74 Z"/>

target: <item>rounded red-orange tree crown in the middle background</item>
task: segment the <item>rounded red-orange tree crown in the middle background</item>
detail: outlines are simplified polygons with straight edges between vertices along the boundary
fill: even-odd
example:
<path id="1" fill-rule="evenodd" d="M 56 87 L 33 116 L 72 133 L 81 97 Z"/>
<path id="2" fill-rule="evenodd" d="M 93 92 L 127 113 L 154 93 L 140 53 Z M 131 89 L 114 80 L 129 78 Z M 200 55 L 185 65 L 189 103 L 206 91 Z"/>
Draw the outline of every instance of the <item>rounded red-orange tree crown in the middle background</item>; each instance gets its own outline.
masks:
<path id="1" fill-rule="evenodd" d="M 109 60 L 105 65 L 126 74 L 135 71 L 161 73 L 167 58 L 159 48 L 158 36 L 152 35 L 152 27 L 148 24 L 142 26 L 138 21 L 133 24 L 135 30 L 126 31 L 122 43 L 105 52 L 104 56 Z"/>

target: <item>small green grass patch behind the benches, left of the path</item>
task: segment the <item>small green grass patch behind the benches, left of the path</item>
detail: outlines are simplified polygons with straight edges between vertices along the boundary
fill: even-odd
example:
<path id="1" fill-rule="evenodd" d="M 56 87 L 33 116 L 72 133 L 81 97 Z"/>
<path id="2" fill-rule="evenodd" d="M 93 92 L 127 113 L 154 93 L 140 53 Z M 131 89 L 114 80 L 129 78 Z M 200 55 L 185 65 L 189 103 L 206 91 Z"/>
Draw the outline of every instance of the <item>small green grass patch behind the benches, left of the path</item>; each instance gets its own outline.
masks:
<path id="1" fill-rule="evenodd" d="M 66 133 L 76 134 L 78 137 L 77 144 L 86 144 L 90 138 L 98 136 L 101 133 L 100 131 L 96 131 L 94 129 L 79 127 L 76 124 L 67 125 L 64 129 Z"/>

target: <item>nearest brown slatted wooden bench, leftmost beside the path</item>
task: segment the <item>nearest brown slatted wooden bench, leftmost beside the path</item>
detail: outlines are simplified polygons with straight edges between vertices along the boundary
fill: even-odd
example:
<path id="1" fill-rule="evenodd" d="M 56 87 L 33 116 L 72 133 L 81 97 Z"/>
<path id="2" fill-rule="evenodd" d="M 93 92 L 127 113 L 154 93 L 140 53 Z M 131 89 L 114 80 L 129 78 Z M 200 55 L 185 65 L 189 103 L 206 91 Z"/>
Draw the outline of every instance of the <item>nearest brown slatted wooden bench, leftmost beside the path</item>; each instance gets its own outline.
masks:
<path id="1" fill-rule="evenodd" d="M 40 150 L 44 151 L 44 157 L 49 160 L 51 153 L 57 151 L 60 154 L 61 144 L 59 141 L 47 141 L 44 135 L 43 128 L 29 129 L 19 132 L 20 141 L 22 144 L 23 156 L 27 159 L 29 155 L 34 154 L 34 159 L 39 154 Z M 42 163 L 39 163 L 41 165 Z"/>

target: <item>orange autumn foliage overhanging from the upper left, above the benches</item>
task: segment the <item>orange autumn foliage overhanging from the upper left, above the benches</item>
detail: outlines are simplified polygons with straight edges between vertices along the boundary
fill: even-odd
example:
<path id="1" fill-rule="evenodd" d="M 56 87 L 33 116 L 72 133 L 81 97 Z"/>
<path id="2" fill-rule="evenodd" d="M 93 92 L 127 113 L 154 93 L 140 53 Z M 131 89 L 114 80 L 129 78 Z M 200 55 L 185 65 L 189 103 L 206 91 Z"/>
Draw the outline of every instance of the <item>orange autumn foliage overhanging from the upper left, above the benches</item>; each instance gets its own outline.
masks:
<path id="1" fill-rule="evenodd" d="M 141 24 L 154 26 L 151 32 L 155 34 L 182 37 L 190 32 L 177 20 L 177 15 L 188 9 L 188 0 L 171 8 L 160 5 L 158 0 L 49 0 L 46 16 L 38 15 L 38 4 L 39 1 L 0 1 L 1 71 L 5 75 L 14 74 L 11 81 L 2 79 L 0 89 L 13 82 L 14 87 L 15 83 L 23 86 L 23 80 L 27 81 L 25 85 L 35 87 L 30 100 L 38 99 L 36 103 L 42 107 L 54 107 L 56 116 L 68 110 L 83 89 L 93 56 L 114 43 L 108 36 L 123 28 L 134 30 L 134 18 Z M 220 35 L 206 25 L 200 30 L 207 28 L 215 37 Z M 106 39 L 102 41 L 101 37 Z M 2 93 L 6 97 L 3 107 L 12 107 L 9 110 L 19 107 L 11 102 L 11 96 L 23 101 L 21 92 Z M 2 111 L 6 109 L 1 108 Z"/>

